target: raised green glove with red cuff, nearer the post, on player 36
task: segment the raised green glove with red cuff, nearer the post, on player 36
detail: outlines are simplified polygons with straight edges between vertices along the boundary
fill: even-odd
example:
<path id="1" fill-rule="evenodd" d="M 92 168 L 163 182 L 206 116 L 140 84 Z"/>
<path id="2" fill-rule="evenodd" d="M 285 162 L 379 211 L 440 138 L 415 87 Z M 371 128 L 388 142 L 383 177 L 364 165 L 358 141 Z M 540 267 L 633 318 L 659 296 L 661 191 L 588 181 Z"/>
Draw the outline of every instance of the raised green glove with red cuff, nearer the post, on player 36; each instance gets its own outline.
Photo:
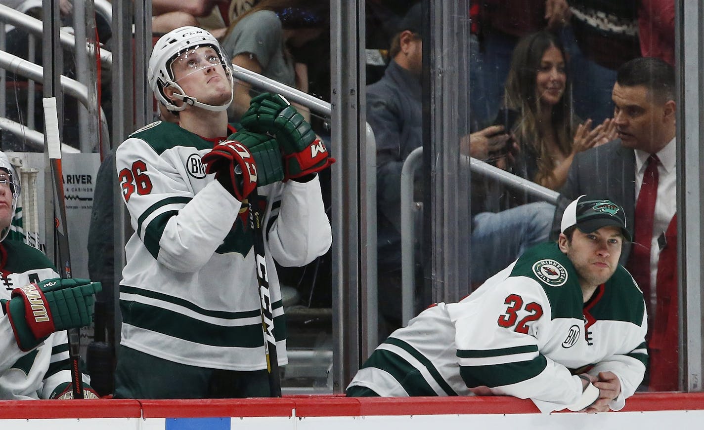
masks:
<path id="1" fill-rule="evenodd" d="M 251 131 L 276 136 L 283 155 L 284 181 L 313 174 L 335 162 L 303 115 L 282 96 L 262 93 L 252 98 L 240 122 Z"/>

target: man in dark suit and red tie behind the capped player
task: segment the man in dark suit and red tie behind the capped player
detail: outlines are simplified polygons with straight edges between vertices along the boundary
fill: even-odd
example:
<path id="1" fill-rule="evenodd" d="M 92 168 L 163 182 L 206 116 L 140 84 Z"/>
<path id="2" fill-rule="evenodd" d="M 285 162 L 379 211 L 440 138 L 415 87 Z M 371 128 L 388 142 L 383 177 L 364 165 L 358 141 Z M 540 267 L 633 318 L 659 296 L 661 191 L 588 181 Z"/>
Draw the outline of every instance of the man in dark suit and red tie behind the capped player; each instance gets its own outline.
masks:
<path id="1" fill-rule="evenodd" d="M 579 195 L 607 195 L 622 204 L 634 242 L 624 243 L 620 262 L 643 290 L 648 310 L 648 389 L 674 391 L 678 325 L 672 66 L 656 58 L 625 63 L 612 100 L 619 138 L 574 157 L 560 190 L 553 231 L 567 204 Z"/>

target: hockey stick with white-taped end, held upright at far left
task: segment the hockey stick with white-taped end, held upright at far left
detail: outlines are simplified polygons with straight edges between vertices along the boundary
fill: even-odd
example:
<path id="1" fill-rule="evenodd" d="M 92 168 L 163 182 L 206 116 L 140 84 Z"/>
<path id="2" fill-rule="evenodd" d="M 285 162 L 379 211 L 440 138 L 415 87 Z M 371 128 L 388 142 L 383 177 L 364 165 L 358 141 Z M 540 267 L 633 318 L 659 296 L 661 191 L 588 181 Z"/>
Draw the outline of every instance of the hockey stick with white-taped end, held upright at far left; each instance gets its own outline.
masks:
<path id="1" fill-rule="evenodd" d="M 54 182 L 54 227 L 58 245 L 57 261 L 61 278 L 69 279 L 71 275 L 71 257 L 68 251 L 68 226 L 66 225 L 66 205 L 63 197 L 63 174 L 61 172 L 61 136 L 58 133 L 58 115 L 56 98 L 42 99 L 44 103 L 44 133 L 46 150 L 49 152 L 51 177 Z M 73 398 L 83 398 L 83 378 L 78 368 L 80 363 L 80 332 L 77 328 L 68 332 L 68 360 L 71 367 Z"/>

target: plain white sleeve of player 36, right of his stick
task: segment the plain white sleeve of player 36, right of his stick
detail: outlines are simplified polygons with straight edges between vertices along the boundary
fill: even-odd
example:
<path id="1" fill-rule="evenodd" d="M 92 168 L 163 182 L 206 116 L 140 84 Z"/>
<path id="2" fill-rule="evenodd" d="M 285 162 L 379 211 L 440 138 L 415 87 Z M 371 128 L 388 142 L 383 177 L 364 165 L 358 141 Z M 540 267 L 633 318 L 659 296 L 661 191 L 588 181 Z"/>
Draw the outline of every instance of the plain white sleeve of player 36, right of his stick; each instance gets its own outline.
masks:
<path id="1" fill-rule="evenodd" d="M 282 266 L 305 266 L 325 254 L 332 244 L 332 228 L 322 202 L 320 179 L 283 184 L 281 206 L 269 231 L 272 257 Z"/>

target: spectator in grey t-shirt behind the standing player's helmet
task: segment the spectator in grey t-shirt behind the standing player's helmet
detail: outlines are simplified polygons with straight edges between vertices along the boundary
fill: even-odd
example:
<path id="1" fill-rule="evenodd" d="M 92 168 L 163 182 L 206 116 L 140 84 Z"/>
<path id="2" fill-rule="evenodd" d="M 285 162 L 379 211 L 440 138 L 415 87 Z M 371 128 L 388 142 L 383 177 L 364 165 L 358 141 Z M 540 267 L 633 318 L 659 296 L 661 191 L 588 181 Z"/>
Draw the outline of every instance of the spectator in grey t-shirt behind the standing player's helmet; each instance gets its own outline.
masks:
<path id="1" fill-rule="evenodd" d="M 320 37 L 328 25 L 327 1 L 263 0 L 232 22 L 222 47 L 235 65 L 308 92 L 308 69 L 290 49 Z M 249 90 L 244 82 L 235 86 L 231 116 L 249 109 Z"/>

